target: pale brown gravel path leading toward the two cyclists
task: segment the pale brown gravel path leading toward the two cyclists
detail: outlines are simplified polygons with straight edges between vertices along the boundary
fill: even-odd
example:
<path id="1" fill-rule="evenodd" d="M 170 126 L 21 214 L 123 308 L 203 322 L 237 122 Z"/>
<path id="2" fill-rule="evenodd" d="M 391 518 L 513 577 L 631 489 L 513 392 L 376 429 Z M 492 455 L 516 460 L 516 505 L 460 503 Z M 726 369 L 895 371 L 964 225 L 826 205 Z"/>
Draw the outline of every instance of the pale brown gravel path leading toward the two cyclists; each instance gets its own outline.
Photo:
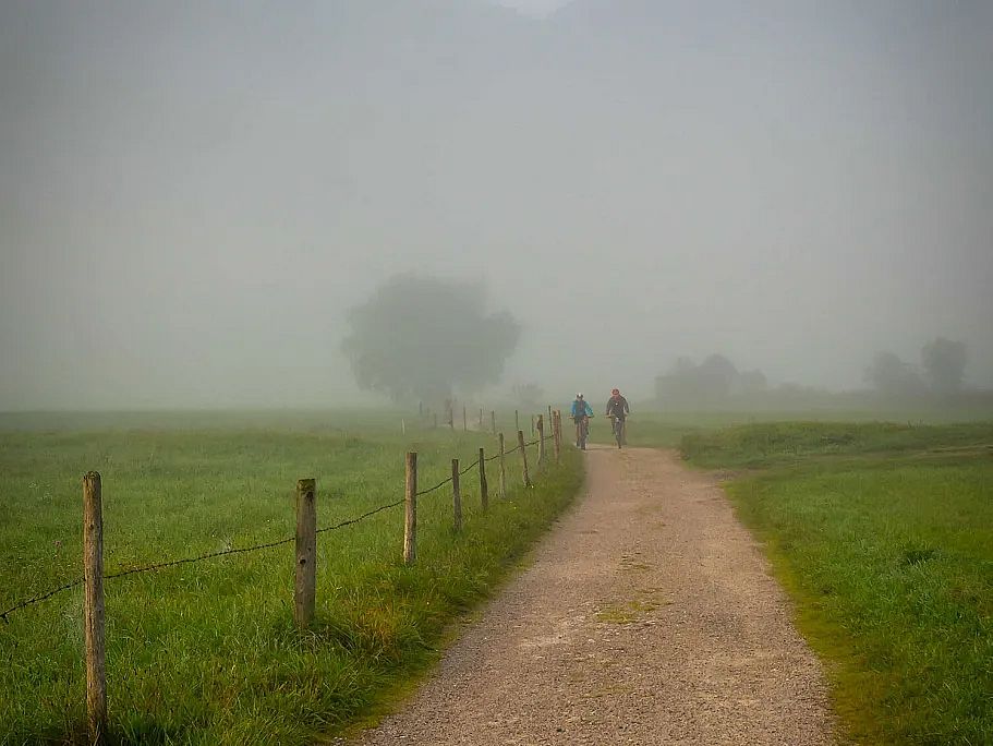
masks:
<path id="1" fill-rule="evenodd" d="M 584 496 L 356 744 L 829 744 L 819 663 L 713 480 L 586 452 Z"/>

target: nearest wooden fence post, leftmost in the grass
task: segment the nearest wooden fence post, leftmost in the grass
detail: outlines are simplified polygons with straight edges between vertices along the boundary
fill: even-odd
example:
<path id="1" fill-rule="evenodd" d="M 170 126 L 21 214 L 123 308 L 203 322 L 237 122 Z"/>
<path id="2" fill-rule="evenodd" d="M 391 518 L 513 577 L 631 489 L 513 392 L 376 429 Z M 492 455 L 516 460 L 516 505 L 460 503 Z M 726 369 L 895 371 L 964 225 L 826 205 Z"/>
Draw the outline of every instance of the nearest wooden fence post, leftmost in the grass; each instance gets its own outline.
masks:
<path id="1" fill-rule="evenodd" d="M 104 647 L 104 508 L 100 474 L 83 477 L 83 635 L 86 645 L 86 714 L 89 743 L 107 733 Z"/>

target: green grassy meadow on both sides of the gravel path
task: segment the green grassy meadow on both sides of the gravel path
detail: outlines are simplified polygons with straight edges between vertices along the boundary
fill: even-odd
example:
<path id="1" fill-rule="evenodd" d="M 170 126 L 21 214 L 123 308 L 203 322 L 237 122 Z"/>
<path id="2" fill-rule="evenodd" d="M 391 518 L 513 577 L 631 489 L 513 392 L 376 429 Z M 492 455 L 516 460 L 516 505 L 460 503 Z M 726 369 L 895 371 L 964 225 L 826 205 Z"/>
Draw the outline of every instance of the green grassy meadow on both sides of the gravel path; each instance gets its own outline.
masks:
<path id="1" fill-rule="evenodd" d="M 782 421 L 635 413 L 632 445 L 678 445 L 715 470 L 825 662 L 843 735 L 860 744 L 993 739 L 993 424 Z M 0 416 L 0 611 L 80 574 L 82 474 L 104 477 L 106 571 L 290 537 L 315 477 L 318 526 L 402 497 L 495 453 L 482 432 L 385 411 Z M 855 419 L 855 416 L 852 416 Z M 508 421 L 509 420 L 509 421 Z M 512 416 L 498 423 L 512 430 Z M 529 428 L 530 430 L 530 428 Z M 606 420 L 592 435 L 606 441 Z M 567 441 L 569 437 L 567 421 Z M 530 457 L 534 460 L 534 448 Z M 532 490 L 465 526 L 446 486 L 318 538 L 313 626 L 292 622 L 292 544 L 108 580 L 111 743 L 313 743 L 375 718 L 439 654 L 581 484 L 566 449 Z M 489 467 L 496 493 L 495 464 Z M 0 624 L 0 743 L 84 743 L 78 588 Z"/>

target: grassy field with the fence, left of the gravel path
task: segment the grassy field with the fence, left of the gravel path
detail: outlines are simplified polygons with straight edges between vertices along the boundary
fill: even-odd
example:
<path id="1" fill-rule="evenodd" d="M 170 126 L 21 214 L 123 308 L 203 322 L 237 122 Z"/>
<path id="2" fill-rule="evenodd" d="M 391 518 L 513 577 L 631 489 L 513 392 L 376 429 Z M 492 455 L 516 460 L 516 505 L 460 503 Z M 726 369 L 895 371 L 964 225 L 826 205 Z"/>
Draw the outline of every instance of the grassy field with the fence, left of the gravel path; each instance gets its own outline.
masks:
<path id="1" fill-rule="evenodd" d="M 123 425 L 123 426 L 122 426 Z M 510 426 L 505 424 L 509 431 Z M 81 477 L 104 481 L 105 571 L 293 534 L 294 485 L 317 478 L 318 526 L 420 486 L 496 442 L 483 433 L 399 433 L 392 414 L 24 416 L 0 418 L 0 610 L 81 574 Z M 531 458 L 535 456 L 531 449 Z M 447 626 L 506 575 L 570 502 L 578 455 L 480 509 L 463 478 L 421 497 L 419 562 L 404 567 L 402 507 L 318 537 L 317 612 L 292 625 L 292 544 L 108 580 L 112 743 L 312 743 L 368 715 L 436 658 Z M 0 744 L 84 743 L 80 588 L 0 624 Z"/>

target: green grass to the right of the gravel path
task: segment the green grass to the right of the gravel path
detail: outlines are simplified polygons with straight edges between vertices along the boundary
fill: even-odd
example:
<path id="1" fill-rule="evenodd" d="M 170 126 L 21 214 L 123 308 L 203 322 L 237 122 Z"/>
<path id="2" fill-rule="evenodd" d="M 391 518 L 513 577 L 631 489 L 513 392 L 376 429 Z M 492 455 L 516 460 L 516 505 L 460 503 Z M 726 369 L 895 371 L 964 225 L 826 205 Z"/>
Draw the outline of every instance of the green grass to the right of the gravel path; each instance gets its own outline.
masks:
<path id="1" fill-rule="evenodd" d="M 993 424 L 683 438 L 763 541 L 862 744 L 993 743 Z"/>

